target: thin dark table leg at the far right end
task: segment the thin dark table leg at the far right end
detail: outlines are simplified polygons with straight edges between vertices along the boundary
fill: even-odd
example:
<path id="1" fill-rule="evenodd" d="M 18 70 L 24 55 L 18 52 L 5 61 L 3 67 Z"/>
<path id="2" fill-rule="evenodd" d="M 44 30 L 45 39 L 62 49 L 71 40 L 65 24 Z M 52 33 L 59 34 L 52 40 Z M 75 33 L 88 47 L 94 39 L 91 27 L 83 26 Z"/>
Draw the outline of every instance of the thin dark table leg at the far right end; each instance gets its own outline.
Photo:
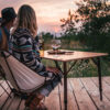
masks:
<path id="1" fill-rule="evenodd" d="M 98 76 L 99 76 L 99 91 L 100 91 L 100 100 L 102 100 L 102 80 L 101 80 L 101 66 L 100 58 L 98 57 Z"/>

